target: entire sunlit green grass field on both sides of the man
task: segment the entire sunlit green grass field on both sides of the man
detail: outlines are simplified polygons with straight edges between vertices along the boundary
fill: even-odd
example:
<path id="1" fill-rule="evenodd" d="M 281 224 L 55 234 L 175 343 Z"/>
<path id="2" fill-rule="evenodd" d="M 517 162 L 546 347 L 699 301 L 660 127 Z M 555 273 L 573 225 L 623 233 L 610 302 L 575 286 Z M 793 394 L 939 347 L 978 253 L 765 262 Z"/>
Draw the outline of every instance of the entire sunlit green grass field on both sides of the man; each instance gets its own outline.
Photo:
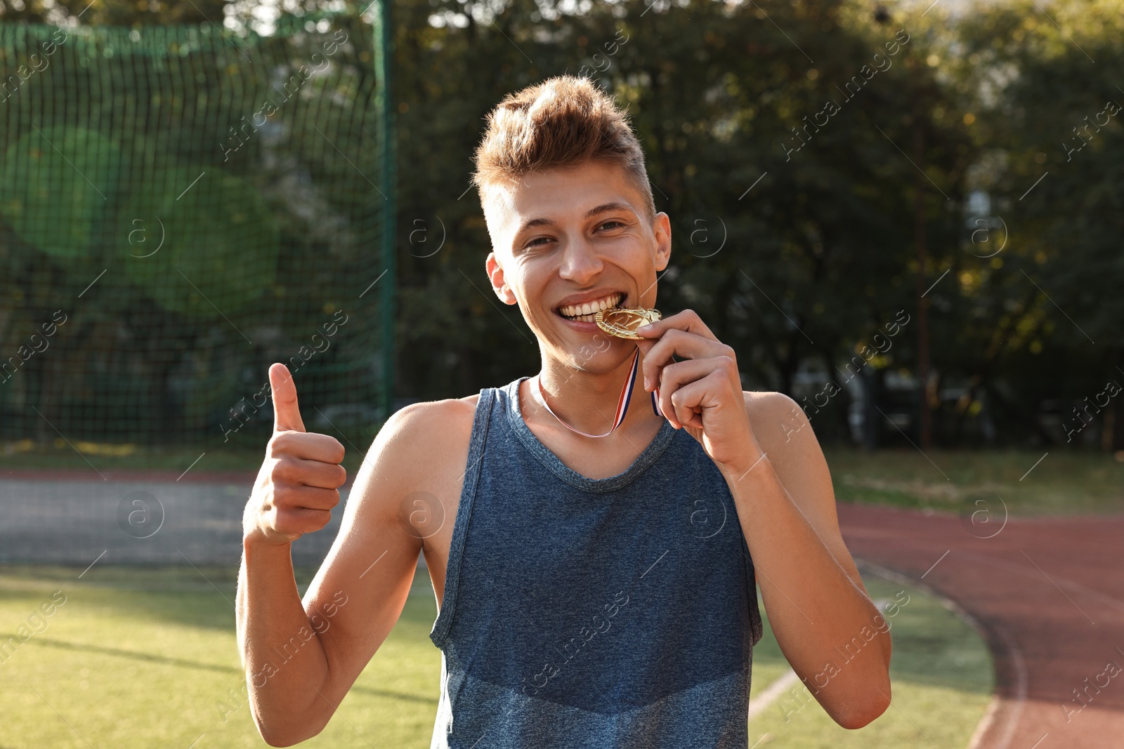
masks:
<path id="1" fill-rule="evenodd" d="M 242 691 L 233 569 L 101 566 L 81 581 L 79 573 L 0 567 L 0 632 L 39 630 L 0 663 L 0 747 L 265 746 Z M 865 729 L 845 731 L 810 696 L 794 710 L 801 702 L 789 694 L 751 722 L 751 745 L 964 746 L 991 691 L 982 641 L 924 593 L 874 578 L 868 587 L 876 600 L 909 596 L 890 619 L 894 706 Z M 49 616 L 33 618 L 62 596 Z M 422 570 L 387 642 L 324 732 L 302 746 L 428 747 L 441 673 L 428 639 L 434 615 Z M 767 632 L 754 651 L 754 695 L 785 670 Z"/>

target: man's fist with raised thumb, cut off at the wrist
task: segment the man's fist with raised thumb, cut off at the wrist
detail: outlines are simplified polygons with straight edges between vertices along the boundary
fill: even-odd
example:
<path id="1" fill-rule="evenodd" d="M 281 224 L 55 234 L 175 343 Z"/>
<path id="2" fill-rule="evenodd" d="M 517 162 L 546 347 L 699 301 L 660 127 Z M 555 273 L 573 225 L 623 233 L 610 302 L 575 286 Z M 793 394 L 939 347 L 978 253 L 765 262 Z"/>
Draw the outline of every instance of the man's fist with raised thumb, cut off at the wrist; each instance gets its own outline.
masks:
<path id="1" fill-rule="evenodd" d="M 245 540 L 289 544 L 324 528 L 347 481 L 344 446 L 335 437 L 305 431 L 297 385 L 283 364 L 270 367 L 273 437 L 243 514 Z"/>

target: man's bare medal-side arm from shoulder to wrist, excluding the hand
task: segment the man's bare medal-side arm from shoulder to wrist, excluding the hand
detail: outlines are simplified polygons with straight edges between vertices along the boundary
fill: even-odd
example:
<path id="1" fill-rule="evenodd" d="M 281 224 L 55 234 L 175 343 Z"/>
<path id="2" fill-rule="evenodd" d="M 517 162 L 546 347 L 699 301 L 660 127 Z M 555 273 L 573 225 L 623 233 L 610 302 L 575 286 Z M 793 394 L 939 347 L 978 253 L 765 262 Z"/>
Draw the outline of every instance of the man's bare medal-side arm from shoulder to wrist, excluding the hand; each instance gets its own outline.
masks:
<path id="1" fill-rule="evenodd" d="M 832 719 L 862 728 L 889 704 L 889 623 L 843 542 L 831 473 L 807 415 L 780 393 L 745 400 L 765 457 L 727 483 L 769 622 Z"/>

